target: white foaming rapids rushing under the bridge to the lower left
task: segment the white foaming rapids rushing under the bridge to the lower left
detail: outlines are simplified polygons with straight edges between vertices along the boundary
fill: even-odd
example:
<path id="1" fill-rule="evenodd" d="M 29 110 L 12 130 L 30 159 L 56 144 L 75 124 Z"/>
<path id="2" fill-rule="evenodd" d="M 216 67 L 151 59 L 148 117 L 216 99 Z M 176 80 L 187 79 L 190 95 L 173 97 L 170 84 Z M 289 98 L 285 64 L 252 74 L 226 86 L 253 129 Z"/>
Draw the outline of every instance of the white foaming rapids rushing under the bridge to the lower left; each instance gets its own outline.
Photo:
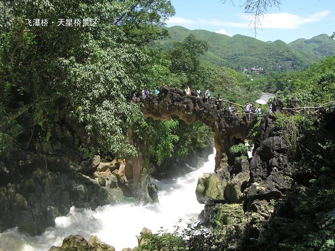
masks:
<path id="1" fill-rule="evenodd" d="M 0 233 L 0 248 L 4 251 L 45 251 L 52 245 L 60 246 L 70 234 L 81 234 L 86 239 L 94 234 L 116 250 L 121 250 L 137 245 L 135 236 L 143 227 L 153 232 L 161 226 L 172 231 L 179 219 L 183 218 L 186 224 L 191 217 L 197 219 L 204 209 L 204 205 L 197 201 L 195 190 L 203 173 L 214 172 L 214 157 L 215 153 L 209 156 L 202 168 L 182 177 L 154 181 L 159 188 L 157 204 L 105 205 L 94 211 L 72 207 L 68 215 L 55 219 L 55 227 L 48 227 L 40 236 L 29 236 L 16 228 Z"/>

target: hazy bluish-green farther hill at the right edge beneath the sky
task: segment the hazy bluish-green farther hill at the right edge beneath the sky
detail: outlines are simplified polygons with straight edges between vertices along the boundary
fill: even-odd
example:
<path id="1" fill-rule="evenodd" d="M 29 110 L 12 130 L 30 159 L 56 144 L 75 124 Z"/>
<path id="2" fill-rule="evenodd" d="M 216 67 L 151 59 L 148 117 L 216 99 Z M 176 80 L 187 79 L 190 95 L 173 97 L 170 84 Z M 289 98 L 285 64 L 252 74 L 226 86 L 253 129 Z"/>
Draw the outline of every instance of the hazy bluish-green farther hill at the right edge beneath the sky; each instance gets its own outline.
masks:
<path id="1" fill-rule="evenodd" d="M 321 34 L 311 39 L 299 38 L 288 45 L 303 54 L 313 54 L 318 59 L 335 55 L 335 42 L 326 34 Z"/>

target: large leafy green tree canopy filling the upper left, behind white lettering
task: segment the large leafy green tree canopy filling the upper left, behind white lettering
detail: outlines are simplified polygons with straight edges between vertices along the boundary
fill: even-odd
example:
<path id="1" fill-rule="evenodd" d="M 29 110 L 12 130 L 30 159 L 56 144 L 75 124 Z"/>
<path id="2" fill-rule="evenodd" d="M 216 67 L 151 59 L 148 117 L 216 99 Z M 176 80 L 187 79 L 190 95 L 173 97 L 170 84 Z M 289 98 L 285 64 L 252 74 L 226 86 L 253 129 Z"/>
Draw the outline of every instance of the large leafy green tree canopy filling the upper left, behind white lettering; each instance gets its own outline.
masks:
<path id="1" fill-rule="evenodd" d="M 7 10 L 1 19 L 8 21 L 0 26 L 1 149 L 4 139 L 15 141 L 18 136 L 11 121 L 22 118 L 19 124 L 40 124 L 48 132 L 52 123 L 40 122 L 67 108 L 68 115 L 86 126 L 87 145 L 114 155 L 136 155 L 127 130 L 140 119 L 140 111 L 127 100 L 143 69 L 152 65 L 147 45 L 166 35 L 157 25 L 174 15 L 171 2 L 27 0 L 24 5 L 0 5 Z M 28 28 L 25 19 L 39 18 L 37 13 L 49 18 L 48 26 Z M 52 24 L 60 17 L 94 17 L 98 24 Z"/>

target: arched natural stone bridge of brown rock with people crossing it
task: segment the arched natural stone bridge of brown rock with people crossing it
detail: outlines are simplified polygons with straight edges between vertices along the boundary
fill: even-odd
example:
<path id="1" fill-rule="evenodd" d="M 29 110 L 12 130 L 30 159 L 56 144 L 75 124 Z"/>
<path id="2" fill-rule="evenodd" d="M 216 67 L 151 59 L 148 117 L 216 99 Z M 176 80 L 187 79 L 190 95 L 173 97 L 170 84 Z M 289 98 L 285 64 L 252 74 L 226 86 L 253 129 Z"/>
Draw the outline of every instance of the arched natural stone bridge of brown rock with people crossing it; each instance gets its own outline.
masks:
<path id="1" fill-rule="evenodd" d="M 217 109 L 215 104 L 203 102 L 202 98 L 186 95 L 184 90 L 163 86 L 158 96 L 149 95 L 146 99 L 137 99 L 145 118 L 170 120 L 177 115 L 185 122 L 199 121 L 214 132 L 216 148 L 215 170 L 229 162 L 229 148 L 243 142 L 251 129 L 246 116 L 237 116 L 228 109 Z"/>

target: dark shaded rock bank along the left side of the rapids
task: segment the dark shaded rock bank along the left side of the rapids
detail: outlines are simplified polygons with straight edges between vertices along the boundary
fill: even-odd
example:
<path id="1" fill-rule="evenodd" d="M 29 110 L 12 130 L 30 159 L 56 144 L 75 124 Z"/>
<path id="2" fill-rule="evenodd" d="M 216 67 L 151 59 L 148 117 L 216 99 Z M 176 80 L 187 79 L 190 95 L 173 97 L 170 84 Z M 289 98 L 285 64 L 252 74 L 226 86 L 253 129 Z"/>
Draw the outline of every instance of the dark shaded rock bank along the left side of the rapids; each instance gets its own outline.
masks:
<path id="1" fill-rule="evenodd" d="M 94 209 L 122 196 L 121 190 L 107 191 L 81 174 L 37 169 L 17 185 L 0 187 L 0 229 L 18 226 L 20 231 L 40 235 L 55 224 L 55 217 L 69 213 L 71 206 Z"/>

